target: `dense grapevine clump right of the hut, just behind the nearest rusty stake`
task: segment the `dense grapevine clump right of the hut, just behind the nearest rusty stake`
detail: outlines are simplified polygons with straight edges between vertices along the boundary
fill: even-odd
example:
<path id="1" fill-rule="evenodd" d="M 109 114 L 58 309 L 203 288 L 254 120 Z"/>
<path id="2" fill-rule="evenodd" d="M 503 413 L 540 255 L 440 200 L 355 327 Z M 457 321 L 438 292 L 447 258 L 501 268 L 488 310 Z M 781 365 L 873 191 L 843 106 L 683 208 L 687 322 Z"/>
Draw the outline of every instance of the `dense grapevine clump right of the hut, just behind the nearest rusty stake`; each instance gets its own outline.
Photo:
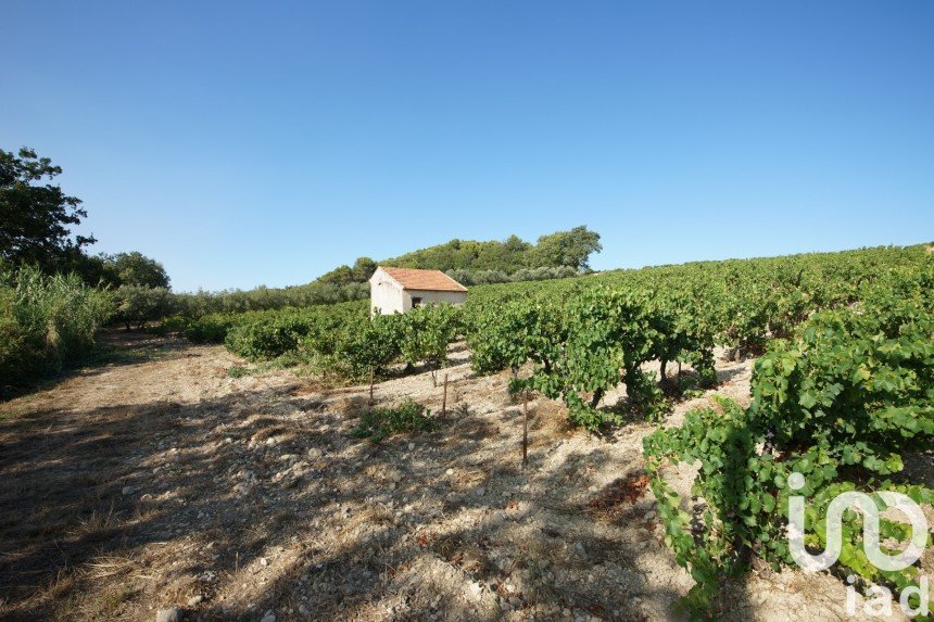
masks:
<path id="1" fill-rule="evenodd" d="M 693 358 L 712 369 L 712 335 L 693 331 L 645 291 L 604 287 L 579 289 L 564 301 L 515 301 L 482 306 L 469 321 L 474 369 L 491 373 L 533 363 L 532 375 L 515 378 L 514 391 L 534 389 L 560 397 L 570 419 L 589 430 L 618 412 L 598 410 L 603 395 L 622 383 L 631 407 L 658 417 L 664 398 L 642 370 L 653 359 Z M 689 350 L 695 348 L 695 350 Z"/>

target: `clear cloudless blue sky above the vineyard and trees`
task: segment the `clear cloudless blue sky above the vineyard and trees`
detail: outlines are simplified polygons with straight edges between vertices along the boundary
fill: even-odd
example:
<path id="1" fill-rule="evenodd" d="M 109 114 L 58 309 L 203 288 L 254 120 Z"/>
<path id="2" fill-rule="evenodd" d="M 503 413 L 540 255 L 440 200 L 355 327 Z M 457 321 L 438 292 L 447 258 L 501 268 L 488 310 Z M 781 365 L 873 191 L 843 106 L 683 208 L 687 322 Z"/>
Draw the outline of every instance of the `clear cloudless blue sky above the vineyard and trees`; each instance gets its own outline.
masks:
<path id="1" fill-rule="evenodd" d="M 176 290 L 577 225 L 597 269 L 934 239 L 934 3 L 4 3 L 0 148 Z"/>

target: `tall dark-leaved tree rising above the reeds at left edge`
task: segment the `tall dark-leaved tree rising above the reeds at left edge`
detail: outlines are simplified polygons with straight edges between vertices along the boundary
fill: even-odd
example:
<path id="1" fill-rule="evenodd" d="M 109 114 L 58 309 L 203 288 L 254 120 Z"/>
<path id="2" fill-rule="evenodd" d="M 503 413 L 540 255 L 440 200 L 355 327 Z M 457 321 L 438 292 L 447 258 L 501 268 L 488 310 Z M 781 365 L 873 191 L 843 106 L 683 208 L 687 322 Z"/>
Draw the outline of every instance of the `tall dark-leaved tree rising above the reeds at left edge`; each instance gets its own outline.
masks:
<path id="1" fill-rule="evenodd" d="M 88 213 L 79 199 L 50 182 L 61 173 L 29 148 L 18 155 L 0 149 L 0 257 L 52 272 L 73 264 L 84 246 L 97 241 L 72 237 L 70 227 Z"/>

